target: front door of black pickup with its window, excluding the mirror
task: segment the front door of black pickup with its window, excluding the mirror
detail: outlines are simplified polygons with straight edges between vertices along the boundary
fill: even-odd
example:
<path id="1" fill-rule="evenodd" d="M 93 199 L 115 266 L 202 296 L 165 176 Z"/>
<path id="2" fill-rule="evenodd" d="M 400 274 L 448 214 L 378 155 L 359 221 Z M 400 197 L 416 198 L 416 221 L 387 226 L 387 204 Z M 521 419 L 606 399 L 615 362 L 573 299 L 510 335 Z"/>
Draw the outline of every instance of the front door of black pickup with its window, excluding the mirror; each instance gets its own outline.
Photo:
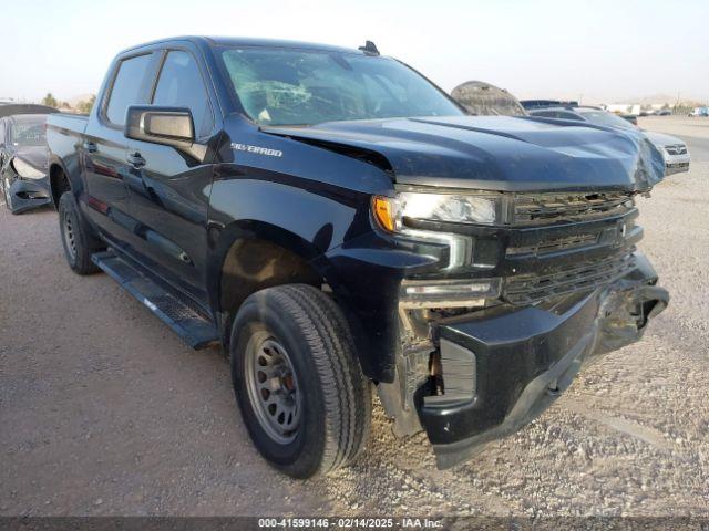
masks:
<path id="1" fill-rule="evenodd" d="M 187 107 L 197 144 L 216 135 L 216 106 L 197 51 L 185 45 L 164 50 L 151 103 Z M 165 145 L 129 140 L 132 168 L 131 216 L 140 226 L 141 259 L 153 271 L 198 302 L 206 301 L 207 207 L 213 166 Z"/>

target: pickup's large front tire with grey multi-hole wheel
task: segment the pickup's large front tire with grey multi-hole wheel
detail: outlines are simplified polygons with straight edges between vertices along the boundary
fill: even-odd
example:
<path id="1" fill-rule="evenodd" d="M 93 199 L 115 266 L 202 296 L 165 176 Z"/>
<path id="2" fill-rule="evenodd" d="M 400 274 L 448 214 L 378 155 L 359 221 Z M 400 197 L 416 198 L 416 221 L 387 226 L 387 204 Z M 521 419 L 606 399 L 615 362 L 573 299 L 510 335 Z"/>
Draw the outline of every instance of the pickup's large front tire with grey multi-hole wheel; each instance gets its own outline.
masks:
<path id="1" fill-rule="evenodd" d="M 309 478 L 359 455 L 371 386 L 330 298 L 305 284 L 254 293 L 234 321 L 229 351 L 244 421 L 270 465 Z"/>

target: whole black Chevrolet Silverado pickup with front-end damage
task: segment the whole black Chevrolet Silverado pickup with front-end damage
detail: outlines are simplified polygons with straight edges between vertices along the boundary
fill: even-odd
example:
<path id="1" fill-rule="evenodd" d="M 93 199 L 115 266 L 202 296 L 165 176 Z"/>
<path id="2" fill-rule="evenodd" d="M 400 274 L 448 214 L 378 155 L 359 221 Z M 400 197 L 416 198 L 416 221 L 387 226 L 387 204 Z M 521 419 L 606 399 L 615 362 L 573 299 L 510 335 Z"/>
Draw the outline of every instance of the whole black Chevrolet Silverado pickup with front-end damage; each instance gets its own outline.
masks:
<path id="1" fill-rule="evenodd" d="M 469 116 L 369 42 L 132 48 L 48 142 L 71 268 L 222 344 L 255 445 L 294 477 L 352 461 L 372 389 L 460 462 L 668 303 L 636 252 L 634 197 L 664 173 L 643 135 Z"/>

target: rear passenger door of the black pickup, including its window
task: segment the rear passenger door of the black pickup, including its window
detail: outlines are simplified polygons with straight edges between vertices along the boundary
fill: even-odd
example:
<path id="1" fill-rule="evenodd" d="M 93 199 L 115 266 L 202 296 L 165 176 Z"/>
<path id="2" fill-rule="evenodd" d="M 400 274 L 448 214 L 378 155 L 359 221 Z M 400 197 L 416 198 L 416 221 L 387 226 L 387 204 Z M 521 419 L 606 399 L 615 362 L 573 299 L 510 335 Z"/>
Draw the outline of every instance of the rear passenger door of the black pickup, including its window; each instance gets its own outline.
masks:
<path id="1" fill-rule="evenodd" d="M 88 212 L 99 228 L 116 244 L 131 239 L 133 227 L 127 216 L 130 177 L 126 160 L 127 138 L 123 134 L 125 112 L 130 105 L 146 103 L 150 97 L 152 52 L 121 58 L 100 104 L 96 119 L 90 119 L 81 146 L 84 153 Z"/>

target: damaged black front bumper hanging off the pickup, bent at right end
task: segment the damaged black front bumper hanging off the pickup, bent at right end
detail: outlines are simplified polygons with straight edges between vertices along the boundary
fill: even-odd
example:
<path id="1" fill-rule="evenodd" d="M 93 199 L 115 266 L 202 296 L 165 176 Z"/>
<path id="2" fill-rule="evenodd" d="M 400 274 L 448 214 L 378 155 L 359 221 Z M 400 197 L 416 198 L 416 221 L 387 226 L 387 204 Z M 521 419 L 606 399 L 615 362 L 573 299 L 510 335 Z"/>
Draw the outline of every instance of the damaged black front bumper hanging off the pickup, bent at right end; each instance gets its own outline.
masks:
<path id="1" fill-rule="evenodd" d="M 643 335 L 669 294 L 647 259 L 635 259 L 621 279 L 561 305 L 503 305 L 440 323 L 444 393 L 415 400 L 439 468 L 528 424 L 582 365 Z"/>

